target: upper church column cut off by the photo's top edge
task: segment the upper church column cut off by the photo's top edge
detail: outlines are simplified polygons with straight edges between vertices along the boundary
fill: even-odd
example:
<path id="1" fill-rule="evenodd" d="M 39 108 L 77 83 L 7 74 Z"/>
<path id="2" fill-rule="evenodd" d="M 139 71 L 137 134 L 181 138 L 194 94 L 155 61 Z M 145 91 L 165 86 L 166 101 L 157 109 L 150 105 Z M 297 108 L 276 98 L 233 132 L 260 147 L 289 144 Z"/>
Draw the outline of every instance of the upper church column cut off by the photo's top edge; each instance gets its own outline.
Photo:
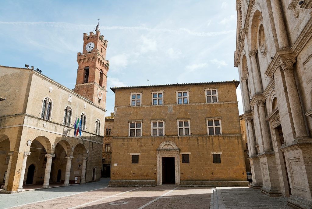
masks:
<path id="1" fill-rule="evenodd" d="M 284 23 L 284 15 L 281 10 L 280 0 L 271 0 L 274 25 L 277 35 L 277 41 L 280 49 L 288 47 L 287 31 Z"/>

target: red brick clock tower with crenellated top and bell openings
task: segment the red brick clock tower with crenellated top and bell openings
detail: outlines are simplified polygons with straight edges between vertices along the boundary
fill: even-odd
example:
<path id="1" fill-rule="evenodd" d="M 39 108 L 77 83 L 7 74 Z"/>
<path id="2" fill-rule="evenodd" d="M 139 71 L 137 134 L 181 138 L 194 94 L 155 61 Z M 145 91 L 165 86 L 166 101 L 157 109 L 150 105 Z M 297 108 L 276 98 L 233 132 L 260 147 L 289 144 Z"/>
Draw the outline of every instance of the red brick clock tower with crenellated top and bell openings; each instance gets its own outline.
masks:
<path id="1" fill-rule="evenodd" d="M 82 54 L 77 53 L 75 92 L 105 109 L 107 72 L 110 62 L 105 59 L 107 40 L 104 40 L 104 36 L 100 34 L 98 26 L 95 34 L 93 32 L 90 32 L 90 35 L 83 34 Z"/>

